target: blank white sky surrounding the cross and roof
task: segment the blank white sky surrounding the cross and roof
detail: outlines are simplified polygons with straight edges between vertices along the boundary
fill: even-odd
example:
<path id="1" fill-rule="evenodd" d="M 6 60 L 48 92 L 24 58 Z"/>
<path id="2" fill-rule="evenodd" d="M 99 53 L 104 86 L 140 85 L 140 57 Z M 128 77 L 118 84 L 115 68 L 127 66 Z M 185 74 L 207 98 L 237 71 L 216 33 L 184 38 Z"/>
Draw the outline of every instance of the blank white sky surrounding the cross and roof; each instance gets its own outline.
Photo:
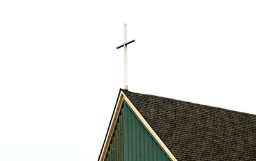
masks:
<path id="1" fill-rule="evenodd" d="M 256 114 L 255 1 L 0 1 L 0 160 L 97 160 L 119 88 Z"/>

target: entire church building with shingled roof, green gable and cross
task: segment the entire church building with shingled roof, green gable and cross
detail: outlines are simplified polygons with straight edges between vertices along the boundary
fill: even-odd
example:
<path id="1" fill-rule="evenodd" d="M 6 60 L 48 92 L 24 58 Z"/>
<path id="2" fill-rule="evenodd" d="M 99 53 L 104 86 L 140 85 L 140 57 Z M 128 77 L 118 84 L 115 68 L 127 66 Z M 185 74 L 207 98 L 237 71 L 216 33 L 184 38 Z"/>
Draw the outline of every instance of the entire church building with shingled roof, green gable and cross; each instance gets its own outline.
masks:
<path id="1" fill-rule="evenodd" d="M 120 89 L 99 161 L 256 160 L 256 115 Z"/>

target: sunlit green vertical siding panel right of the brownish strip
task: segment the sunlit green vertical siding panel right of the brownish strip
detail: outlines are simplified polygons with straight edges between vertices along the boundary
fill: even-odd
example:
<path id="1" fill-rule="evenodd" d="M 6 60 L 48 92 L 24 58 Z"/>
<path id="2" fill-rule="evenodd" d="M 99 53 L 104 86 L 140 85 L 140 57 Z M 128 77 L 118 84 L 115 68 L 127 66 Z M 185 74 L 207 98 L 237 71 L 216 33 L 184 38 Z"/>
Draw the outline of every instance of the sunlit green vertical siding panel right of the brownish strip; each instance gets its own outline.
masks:
<path id="1" fill-rule="evenodd" d="M 124 101 L 124 161 L 170 161 Z"/>

